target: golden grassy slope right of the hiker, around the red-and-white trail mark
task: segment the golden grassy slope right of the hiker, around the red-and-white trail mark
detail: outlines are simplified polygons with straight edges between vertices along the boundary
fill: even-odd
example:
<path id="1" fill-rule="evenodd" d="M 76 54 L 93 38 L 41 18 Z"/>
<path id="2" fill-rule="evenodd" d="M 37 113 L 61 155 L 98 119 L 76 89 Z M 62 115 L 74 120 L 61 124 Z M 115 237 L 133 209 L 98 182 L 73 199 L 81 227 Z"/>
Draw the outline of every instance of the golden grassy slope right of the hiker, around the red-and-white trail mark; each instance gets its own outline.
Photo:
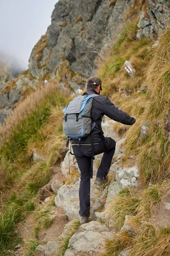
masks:
<path id="1" fill-rule="evenodd" d="M 132 234 L 123 231 L 119 236 L 114 235 L 113 240 L 106 240 L 102 256 L 117 256 L 125 248 L 130 249 L 129 256 L 168 256 L 170 253 L 170 229 L 160 229 L 153 219 L 170 191 L 170 141 L 165 129 L 170 109 L 170 29 L 161 35 L 155 49 L 148 49 L 153 41 L 133 38 L 135 29 L 135 23 L 125 29 L 97 73 L 104 81 L 105 95 L 109 94 L 120 109 L 136 117 L 132 127 L 116 124 L 114 128 L 126 135 L 121 165 L 129 166 L 129 156 L 135 154 L 141 183 L 140 189 L 122 189 L 108 205 L 108 220 L 114 216 L 117 231 L 125 215 L 135 217 L 129 220 Z M 134 79 L 123 70 L 125 60 L 130 60 L 136 68 Z M 142 85 L 147 85 L 147 93 L 140 92 Z M 139 140 L 146 120 L 150 121 L 148 135 Z"/>

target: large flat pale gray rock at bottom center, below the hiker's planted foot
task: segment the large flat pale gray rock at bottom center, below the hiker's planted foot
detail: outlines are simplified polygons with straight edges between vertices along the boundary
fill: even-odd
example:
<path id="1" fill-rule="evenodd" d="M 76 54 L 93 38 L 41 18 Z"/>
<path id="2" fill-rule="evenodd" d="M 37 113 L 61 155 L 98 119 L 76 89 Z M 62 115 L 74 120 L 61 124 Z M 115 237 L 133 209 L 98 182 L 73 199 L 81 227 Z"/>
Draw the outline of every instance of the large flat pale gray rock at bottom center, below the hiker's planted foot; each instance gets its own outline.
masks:
<path id="1" fill-rule="evenodd" d="M 72 255 L 75 255 L 79 252 L 100 252 L 104 245 L 105 238 L 105 235 L 94 231 L 75 233 L 69 241 L 65 256 L 71 255 L 69 253 L 73 253 Z"/>

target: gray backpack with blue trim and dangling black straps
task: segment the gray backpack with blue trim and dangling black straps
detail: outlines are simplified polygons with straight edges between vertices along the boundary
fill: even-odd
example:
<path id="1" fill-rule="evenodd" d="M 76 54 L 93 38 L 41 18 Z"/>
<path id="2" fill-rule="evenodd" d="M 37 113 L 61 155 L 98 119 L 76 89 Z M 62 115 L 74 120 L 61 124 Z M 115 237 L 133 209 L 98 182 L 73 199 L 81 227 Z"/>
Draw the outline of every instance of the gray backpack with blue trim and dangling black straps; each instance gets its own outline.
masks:
<path id="1" fill-rule="evenodd" d="M 63 131 L 67 136 L 66 147 L 68 147 L 69 140 L 77 139 L 79 146 L 81 145 L 81 139 L 88 136 L 93 131 L 95 122 L 91 119 L 91 107 L 93 98 L 99 96 L 98 94 L 91 95 L 79 95 L 74 98 L 62 111 L 63 115 Z M 91 133 L 91 178 L 93 177 L 93 160 L 94 160 L 94 143 L 93 135 Z M 71 150 L 69 152 L 71 153 Z M 68 154 L 68 157 L 69 157 Z M 73 154 L 74 155 L 74 154 Z M 68 160 L 69 161 L 69 160 Z M 70 165 L 69 165 L 70 174 Z"/>

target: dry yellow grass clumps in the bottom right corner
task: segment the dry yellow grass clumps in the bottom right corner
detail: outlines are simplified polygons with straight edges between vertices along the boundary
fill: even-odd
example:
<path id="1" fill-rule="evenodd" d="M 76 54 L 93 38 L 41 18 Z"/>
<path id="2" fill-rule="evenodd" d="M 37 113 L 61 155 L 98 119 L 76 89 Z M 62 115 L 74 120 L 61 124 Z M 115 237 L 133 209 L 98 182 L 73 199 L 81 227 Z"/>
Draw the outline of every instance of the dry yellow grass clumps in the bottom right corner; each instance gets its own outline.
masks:
<path id="1" fill-rule="evenodd" d="M 122 241 L 118 235 L 121 241 L 117 242 L 113 235 L 113 240 L 106 241 L 105 254 L 102 256 L 116 256 L 122 249 L 130 249 L 129 256 L 168 256 L 170 229 L 159 229 L 155 224 L 154 213 L 169 192 L 170 180 L 138 189 L 137 192 L 134 188 L 122 189 L 106 208 L 107 217 L 113 220 L 114 227 L 120 228 L 125 215 L 131 215 L 126 225 L 131 227 L 133 237 Z"/>

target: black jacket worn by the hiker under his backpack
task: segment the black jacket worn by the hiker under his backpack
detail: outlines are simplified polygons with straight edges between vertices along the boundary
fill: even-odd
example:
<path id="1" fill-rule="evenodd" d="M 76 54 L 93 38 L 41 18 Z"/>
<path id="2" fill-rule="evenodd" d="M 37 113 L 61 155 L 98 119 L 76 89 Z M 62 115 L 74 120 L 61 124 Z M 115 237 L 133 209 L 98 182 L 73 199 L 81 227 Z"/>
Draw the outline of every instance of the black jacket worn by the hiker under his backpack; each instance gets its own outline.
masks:
<path id="1" fill-rule="evenodd" d="M 97 94 L 93 88 L 89 88 L 83 95 Z M 108 116 L 109 118 L 121 122 L 124 125 L 133 125 L 135 123 L 135 118 L 129 116 L 127 113 L 119 110 L 115 105 L 108 99 L 106 96 L 99 95 L 93 98 L 92 108 L 91 108 L 91 117 L 96 122 L 96 125 L 93 130 L 94 143 L 101 141 L 99 123 L 102 122 L 100 119 L 101 116 Z M 77 140 L 71 140 L 71 143 L 77 143 Z M 81 143 L 90 144 L 91 136 L 90 134 L 81 140 Z"/>

